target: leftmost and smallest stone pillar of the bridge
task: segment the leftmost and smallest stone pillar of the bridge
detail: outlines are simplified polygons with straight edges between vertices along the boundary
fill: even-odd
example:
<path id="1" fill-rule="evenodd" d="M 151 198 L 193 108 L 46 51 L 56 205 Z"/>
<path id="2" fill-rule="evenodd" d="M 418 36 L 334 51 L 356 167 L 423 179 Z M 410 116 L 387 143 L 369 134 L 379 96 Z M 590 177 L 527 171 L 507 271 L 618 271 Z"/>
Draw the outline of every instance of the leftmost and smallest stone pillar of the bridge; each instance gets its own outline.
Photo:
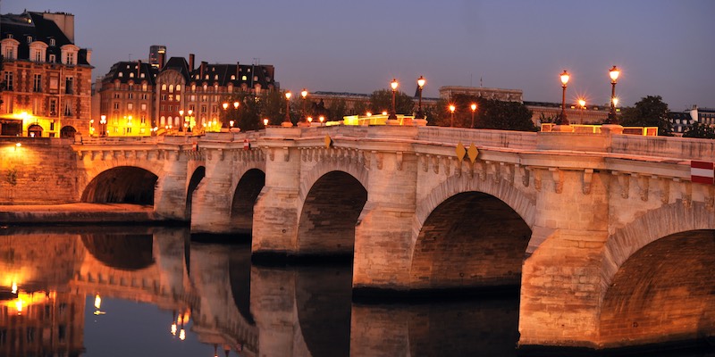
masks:
<path id="1" fill-rule="evenodd" d="M 159 178 L 154 190 L 154 211 L 164 218 L 187 220 L 186 217 L 186 160 L 178 150 L 165 151 L 159 160 L 164 160 L 164 177 Z"/>

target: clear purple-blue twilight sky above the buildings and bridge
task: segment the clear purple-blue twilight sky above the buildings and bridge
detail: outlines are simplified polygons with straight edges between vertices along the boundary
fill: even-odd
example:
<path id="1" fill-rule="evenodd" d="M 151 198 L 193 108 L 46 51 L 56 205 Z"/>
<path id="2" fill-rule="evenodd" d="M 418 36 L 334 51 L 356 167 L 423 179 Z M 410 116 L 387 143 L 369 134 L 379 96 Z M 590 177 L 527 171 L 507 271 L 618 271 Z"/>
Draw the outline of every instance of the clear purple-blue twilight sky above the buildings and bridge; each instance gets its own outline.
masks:
<path id="1" fill-rule="evenodd" d="M 196 61 L 275 66 L 282 88 L 371 93 L 400 80 L 425 96 L 442 86 L 521 89 L 526 101 L 608 104 L 661 95 L 673 111 L 715 108 L 712 0 L 2 0 L 75 15 L 75 44 L 92 49 L 94 77 L 146 60 L 149 46 Z"/>

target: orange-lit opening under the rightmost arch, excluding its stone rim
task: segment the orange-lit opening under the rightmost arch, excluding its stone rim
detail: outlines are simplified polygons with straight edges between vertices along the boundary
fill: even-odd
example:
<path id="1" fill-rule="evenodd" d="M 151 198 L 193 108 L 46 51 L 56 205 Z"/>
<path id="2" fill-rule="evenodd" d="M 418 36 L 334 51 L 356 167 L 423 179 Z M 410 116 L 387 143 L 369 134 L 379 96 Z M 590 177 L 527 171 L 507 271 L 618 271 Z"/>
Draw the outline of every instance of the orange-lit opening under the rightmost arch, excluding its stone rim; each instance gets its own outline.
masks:
<path id="1" fill-rule="evenodd" d="M 607 347 L 715 336 L 715 230 L 662 237 L 631 255 L 601 305 Z"/>

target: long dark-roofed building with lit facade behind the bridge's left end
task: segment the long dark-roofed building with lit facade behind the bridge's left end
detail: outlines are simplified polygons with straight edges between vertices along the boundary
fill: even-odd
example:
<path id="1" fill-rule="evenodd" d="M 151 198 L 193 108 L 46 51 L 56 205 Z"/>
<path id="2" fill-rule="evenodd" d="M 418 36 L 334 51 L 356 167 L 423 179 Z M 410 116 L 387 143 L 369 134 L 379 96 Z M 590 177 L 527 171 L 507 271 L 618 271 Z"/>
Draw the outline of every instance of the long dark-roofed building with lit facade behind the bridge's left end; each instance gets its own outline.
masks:
<path id="1" fill-rule="evenodd" d="M 257 95 L 278 87 L 272 65 L 200 62 L 196 66 L 194 54 L 189 54 L 189 62 L 183 57 L 164 61 L 164 55 L 158 52 L 157 67 L 141 61 L 114 63 L 97 91 L 99 120 L 103 115 L 106 120 L 100 133 L 147 136 L 152 129 L 212 128 L 220 125 L 221 105 L 231 95 Z"/>

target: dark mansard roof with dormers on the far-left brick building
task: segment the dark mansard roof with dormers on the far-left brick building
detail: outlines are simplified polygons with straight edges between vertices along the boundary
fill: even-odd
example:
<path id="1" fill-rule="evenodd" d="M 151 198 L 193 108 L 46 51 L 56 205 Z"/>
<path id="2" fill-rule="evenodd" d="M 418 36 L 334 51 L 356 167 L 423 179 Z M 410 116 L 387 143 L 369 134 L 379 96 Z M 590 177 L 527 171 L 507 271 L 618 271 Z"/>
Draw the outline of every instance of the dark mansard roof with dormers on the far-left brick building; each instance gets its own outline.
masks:
<path id="1" fill-rule="evenodd" d="M 18 46 L 17 58 L 29 60 L 29 43 L 27 37 L 32 37 L 32 41 L 42 41 L 47 44 L 46 58 L 50 54 L 55 54 L 56 61 L 59 61 L 62 54 L 61 47 L 64 45 L 74 45 L 70 39 L 64 35 L 62 29 L 57 27 L 55 21 L 47 20 L 42 12 L 22 12 L 21 14 L 7 13 L 0 15 L 0 38 L 12 36 L 16 39 Z M 51 45 L 51 40 L 55 40 L 55 45 Z M 81 48 L 77 55 L 77 63 L 88 65 L 87 49 Z"/>

